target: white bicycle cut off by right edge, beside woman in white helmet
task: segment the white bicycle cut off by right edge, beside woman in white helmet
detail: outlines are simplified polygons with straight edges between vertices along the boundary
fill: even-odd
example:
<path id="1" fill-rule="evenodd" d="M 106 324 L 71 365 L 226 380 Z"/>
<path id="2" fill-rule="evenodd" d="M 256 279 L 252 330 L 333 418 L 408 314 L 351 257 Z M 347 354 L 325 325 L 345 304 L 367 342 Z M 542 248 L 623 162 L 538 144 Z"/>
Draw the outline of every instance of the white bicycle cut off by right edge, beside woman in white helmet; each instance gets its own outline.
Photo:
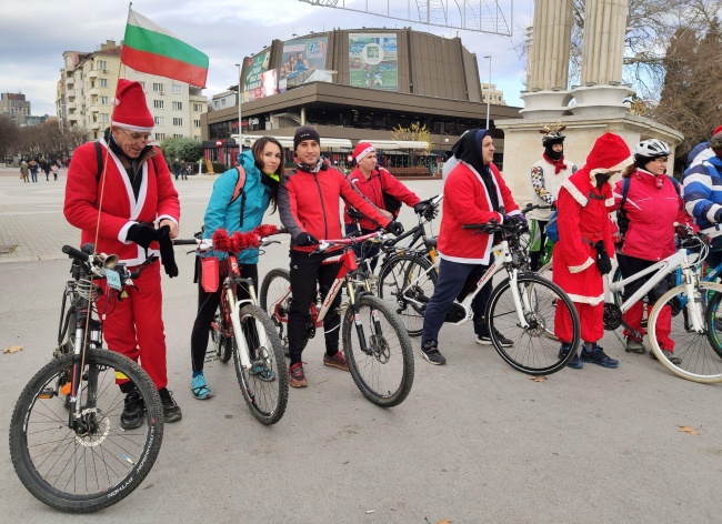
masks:
<path id="1" fill-rule="evenodd" d="M 633 337 L 641 340 L 642 334 L 632 330 L 622 315 L 636 302 L 644 300 L 659 282 L 680 269 L 682 284 L 664 293 L 649 314 L 648 336 L 651 351 L 656 360 L 678 376 L 702 383 L 722 382 L 722 350 L 713 331 L 718 322 L 715 304 L 719 304 L 722 284 L 700 279 L 699 265 L 709 252 L 706 240 L 702 235 L 695 235 L 689 226 L 675 224 L 675 230 L 681 243 L 676 253 L 626 279 L 609 283 L 604 300 L 604 329 L 613 331 L 623 325 Z M 699 255 L 690 256 L 688 250 L 699 250 Z M 620 294 L 625 284 L 646 275 L 651 275 L 649 280 L 621 305 L 616 305 L 613 295 Z M 705 296 L 713 298 L 711 305 L 706 308 Z M 671 308 L 670 336 L 675 342 L 674 351 L 669 354 L 662 351 L 663 346 L 656 337 L 655 329 L 660 313 L 665 306 Z"/>

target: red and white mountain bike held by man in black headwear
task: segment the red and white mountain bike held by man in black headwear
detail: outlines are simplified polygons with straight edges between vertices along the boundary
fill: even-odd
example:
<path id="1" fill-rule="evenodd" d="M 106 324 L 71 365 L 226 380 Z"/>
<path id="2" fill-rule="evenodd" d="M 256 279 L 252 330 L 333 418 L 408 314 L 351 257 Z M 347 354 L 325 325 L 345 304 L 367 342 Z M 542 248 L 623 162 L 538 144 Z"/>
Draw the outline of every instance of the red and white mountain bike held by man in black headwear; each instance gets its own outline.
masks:
<path id="1" fill-rule="evenodd" d="M 384 238 L 383 233 L 374 232 L 355 239 L 320 241 L 315 253 L 324 253 L 332 246 L 344 249 L 338 256 L 323 261 L 323 264 L 340 263 L 341 268 L 327 295 L 309 304 L 307 334 L 312 339 L 315 329 L 323 326 L 333 299 L 343 286 L 349 303 L 339 311 L 342 345 L 353 382 L 369 401 L 392 407 L 403 402 L 411 391 L 414 362 L 411 341 L 401 320 L 385 302 L 372 294 L 369 274 L 359 271 L 355 254 L 349 248 L 374 236 Z M 292 300 L 290 282 L 288 270 L 274 269 L 261 284 L 261 308 L 281 333 L 288 324 Z"/>

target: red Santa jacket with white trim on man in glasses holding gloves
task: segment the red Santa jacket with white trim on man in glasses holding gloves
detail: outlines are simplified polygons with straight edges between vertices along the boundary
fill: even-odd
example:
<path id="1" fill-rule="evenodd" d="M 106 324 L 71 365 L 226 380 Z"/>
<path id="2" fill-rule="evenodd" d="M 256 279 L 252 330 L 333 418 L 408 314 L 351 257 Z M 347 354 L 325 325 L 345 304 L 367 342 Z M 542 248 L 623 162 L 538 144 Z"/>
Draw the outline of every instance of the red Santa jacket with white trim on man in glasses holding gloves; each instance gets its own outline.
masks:
<path id="1" fill-rule="evenodd" d="M 103 178 L 98 177 L 98 159 L 92 142 L 82 144 L 72 155 L 66 183 L 63 212 L 71 225 L 81 230 L 81 245 L 96 244 L 98 253 L 114 253 L 121 263 L 138 265 L 146 260 L 144 250 L 126 240 L 128 229 L 137 222 L 154 222 L 160 219 L 180 220 L 178 192 L 171 181 L 168 165 L 158 148 L 141 159 L 139 177 L 143 180 L 138 200 L 120 160 L 109 152 L 101 140 L 103 161 L 107 161 L 102 205 L 100 202 Z M 156 157 L 157 158 L 153 158 Z M 157 171 L 158 170 L 158 171 Z M 100 229 L 96 241 L 98 209 Z M 150 244 L 149 254 L 160 254 L 158 242 Z"/>

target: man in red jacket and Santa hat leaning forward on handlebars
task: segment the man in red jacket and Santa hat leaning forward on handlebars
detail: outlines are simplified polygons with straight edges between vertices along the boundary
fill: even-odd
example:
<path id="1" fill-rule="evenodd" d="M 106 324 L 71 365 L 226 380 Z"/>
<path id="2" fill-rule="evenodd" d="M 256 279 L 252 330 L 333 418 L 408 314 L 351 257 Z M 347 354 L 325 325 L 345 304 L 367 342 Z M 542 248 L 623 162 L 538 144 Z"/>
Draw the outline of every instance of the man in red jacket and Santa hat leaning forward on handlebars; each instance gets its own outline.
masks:
<path id="1" fill-rule="evenodd" d="M 417 194 L 401 183 L 393 174 L 383 168 L 378 167 L 377 150 L 369 142 L 359 142 L 353 150 L 352 154 L 355 168 L 349 174 L 349 181 L 358 192 L 363 194 L 373 205 L 379 208 L 381 213 L 389 220 L 395 220 L 397 216 L 385 209 L 383 203 L 383 193 L 397 198 L 402 203 L 413 208 L 417 213 L 423 213 L 427 209 L 427 202 L 421 202 Z M 397 215 L 398 215 L 397 211 Z M 348 203 L 343 210 L 343 221 L 345 223 L 345 233 L 368 234 L 377 231 L 380 224 L 369 219 L 361 216 L 359 219 L 352 216 L 357 215 L 358 211 L 350 206 Z M 357 225 L 358 224 L 358 225 Z M 361 246 L 354 245 L 357 256 L 361 255 Z M 364 250 L 364 255 L 373 256 L 379 252 L 379 246 L 374 245 L 369 250 Z M 377 265 L 378 259 L 371 262 L 371 270 Z"/>

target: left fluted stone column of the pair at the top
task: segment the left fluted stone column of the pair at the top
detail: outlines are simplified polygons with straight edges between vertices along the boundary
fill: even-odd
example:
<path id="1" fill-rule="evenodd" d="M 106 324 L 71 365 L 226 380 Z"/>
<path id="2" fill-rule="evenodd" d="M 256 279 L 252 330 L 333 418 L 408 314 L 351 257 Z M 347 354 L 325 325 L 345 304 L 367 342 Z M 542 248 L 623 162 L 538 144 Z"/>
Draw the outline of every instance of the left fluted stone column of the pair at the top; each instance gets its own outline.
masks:
<path id="1" fill-rule="evenodd" d="M 572 34 L 572 0 L 534 4 L 527 91 L 565 91 Z"/>

